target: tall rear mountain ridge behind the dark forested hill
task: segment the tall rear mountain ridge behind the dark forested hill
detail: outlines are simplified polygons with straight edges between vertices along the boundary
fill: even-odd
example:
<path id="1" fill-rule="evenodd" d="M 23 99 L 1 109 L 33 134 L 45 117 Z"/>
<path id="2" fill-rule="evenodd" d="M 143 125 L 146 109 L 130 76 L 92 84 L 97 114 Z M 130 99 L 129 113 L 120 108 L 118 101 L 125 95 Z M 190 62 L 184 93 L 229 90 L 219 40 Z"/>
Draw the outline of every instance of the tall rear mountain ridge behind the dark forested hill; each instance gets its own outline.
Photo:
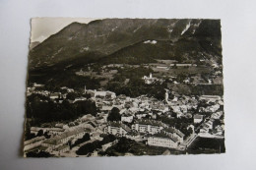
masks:
<path id="1" fill-rule="evenodd" d="M 97 51 L 107 56 L 148 39 L 177 40 L 181 36 L 193 36 L 193 31 L 194 36 L 199 36 L 196 29 L 204 22 L 188 19 L 105 19 L 89 24 L 72 23 L 31 50 L 29 67 L 57 64 L 68 58 L 87 54 L 87 51 Z M 211 22 L 207 25 L 211 26 Z M 190 27 L 181 35 L 188 24 Z M 193 29 L 197 25 L 198 28 Z M 211 35 L 211 32 L 208 34 Z"/>

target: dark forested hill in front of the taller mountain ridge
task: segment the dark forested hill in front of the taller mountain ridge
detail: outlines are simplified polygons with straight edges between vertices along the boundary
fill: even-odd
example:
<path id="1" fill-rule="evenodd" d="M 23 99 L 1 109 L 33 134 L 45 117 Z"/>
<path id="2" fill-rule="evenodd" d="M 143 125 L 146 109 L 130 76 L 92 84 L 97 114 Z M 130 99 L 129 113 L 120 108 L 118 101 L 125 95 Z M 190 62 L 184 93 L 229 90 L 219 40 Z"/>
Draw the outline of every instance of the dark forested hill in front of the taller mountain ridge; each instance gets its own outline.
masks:
<path id="1" fill-rule="evenodd" d="M 202 43 L 204 46 L 202 46 Z M 212 45 L 211 45 L 212 44 Z M 195 38 L 180 38 L 177 41 L 171 40 L 146 40 L 124 47 L 106 57 L 97 60 L 100 64 L 143 64 L 153 63 L 156 59 L 177 60 L 186 62 L 200 59 L 215 59 L 216 52 L 220 50 L 215 43 L 208 44 L 206 40 Z M 210 50 L 207 48 L 211 46 Z M 202 58 L 201 54 L 205 54 Z M 212 55 L 211 55 L 212 54 Z"/>

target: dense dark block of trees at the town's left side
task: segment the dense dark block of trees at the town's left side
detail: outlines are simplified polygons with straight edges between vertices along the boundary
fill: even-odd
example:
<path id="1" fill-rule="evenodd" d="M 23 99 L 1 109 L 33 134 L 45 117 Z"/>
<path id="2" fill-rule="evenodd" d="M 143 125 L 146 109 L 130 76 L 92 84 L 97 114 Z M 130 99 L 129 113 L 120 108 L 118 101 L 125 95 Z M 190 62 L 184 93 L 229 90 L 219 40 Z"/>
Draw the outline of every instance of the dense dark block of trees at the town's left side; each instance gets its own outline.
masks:
<path id="1" fill-rule="evenodd" d="M 33 126 L 54 121 L 72 121 L 86 114 L 96 116 L 95 101 L 88 99 L 70 103 L 63 100 L 62 103 L 55 103 L 49 99 L 42 101 L 40 96 L 33 94 L 27 98 L 27 118 L 33 120 Z"/>

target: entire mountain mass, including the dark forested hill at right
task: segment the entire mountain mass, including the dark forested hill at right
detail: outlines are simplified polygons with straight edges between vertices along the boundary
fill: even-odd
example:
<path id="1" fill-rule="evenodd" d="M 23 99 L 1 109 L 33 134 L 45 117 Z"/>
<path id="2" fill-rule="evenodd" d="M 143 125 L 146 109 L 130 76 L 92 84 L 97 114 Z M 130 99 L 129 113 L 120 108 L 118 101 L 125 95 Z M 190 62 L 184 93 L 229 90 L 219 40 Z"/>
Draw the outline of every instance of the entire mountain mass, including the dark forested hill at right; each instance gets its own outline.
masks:
<path id="1" fill-rule="evenodd" d="M 220 55 L 221 22 L 188 19 L 105 19 L 89 24 L 73 23 L 32 48 L 29 68 L 34 70 L 62 63 L 70 64 L 71 61 L 82 58 L 84 62 L 96 61 L 98 58 L 106 60 L 103 58 L 114 58 L 117 54 L 123 57 L 138 56 L 139 53 L 143 53 L 144 57 L 148 54 L 161 54 L 164 57 L 167 54 L 171 58 L 176 50 L 186 49 L 185 46 L 177 46 L 181 39 L 184 42 L 193 40 L 204 51 Z M 153 44 L 144 43 L 148 40 L 159 43 L 154 48 Z"/>

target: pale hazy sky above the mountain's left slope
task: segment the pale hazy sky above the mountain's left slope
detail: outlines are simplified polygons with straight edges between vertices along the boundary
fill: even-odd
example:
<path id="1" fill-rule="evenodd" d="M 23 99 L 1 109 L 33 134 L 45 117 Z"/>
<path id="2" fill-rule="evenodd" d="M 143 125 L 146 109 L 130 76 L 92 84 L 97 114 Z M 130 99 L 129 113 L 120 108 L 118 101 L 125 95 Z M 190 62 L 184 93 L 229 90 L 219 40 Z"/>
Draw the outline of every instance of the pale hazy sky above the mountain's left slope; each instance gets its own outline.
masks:
<path id="1" fill-rule="evenodd" d="M 89 18 L 33 18 L 31 42 L 43 41 L 51 34 L 54 34 L 62 28 L 73 22 L 88 24 L 94 20 Z"/>

